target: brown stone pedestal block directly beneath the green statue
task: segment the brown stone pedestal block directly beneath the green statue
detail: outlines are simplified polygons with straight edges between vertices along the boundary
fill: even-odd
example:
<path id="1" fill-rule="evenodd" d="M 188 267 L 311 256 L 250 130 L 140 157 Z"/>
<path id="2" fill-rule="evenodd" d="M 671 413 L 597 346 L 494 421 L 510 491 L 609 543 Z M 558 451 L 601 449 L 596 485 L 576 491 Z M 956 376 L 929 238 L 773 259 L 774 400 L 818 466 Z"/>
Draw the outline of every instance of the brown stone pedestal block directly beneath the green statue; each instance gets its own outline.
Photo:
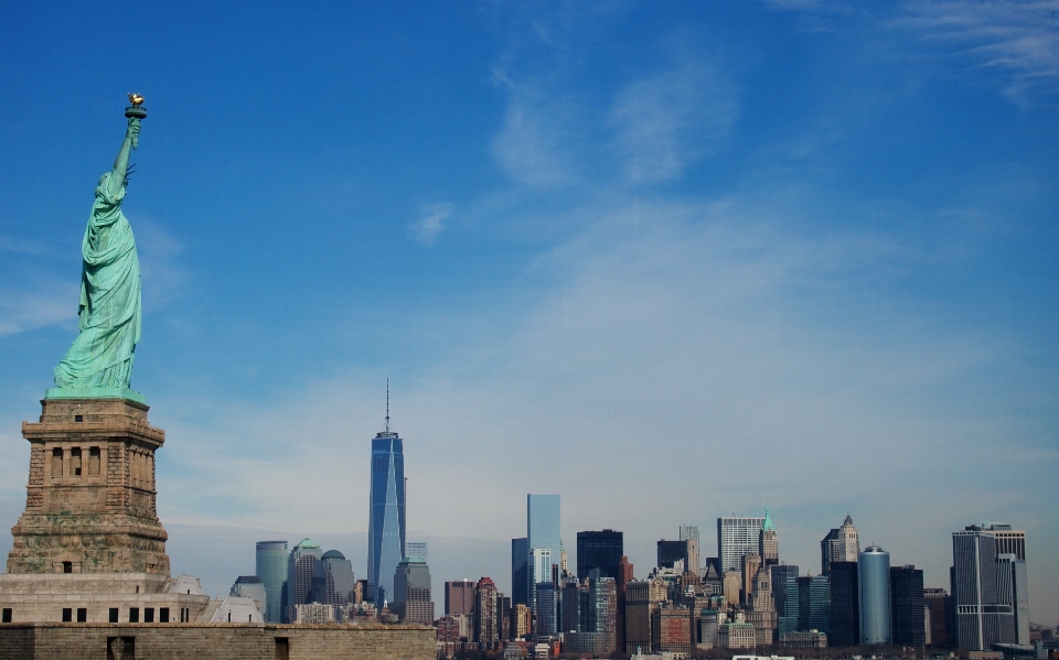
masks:
<path id="1" fill-rule="evenodd" d="M 8 573 L 147 573 L 169 577 L 154 509 L 154 451 L 165 432 L 127 399 L 45 399 L 30 441 L 25 511 Z"/>

